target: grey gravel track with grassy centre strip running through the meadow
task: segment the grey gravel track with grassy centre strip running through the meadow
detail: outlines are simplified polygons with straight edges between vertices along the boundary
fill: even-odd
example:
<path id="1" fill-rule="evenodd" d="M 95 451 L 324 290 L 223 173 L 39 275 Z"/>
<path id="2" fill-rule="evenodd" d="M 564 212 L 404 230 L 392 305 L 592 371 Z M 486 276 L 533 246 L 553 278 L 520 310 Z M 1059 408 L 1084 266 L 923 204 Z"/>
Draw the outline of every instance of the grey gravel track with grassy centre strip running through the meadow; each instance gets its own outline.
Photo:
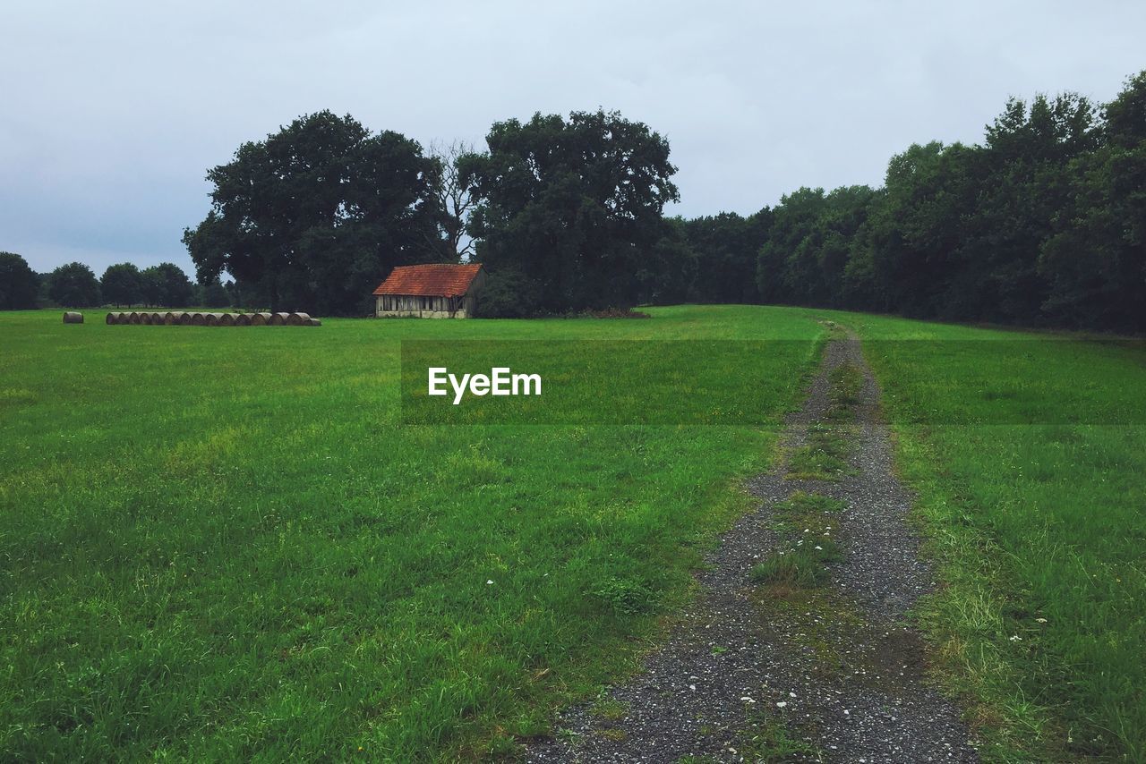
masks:
<path id="1" fill-rule="evenodd" d="M 573 709 L 531 762 L 976 762 L 903 616 L 934 583 L 892 473 L 879 388 L 833 339 L 761 507 L 698 575 L 645 671 Z"/>

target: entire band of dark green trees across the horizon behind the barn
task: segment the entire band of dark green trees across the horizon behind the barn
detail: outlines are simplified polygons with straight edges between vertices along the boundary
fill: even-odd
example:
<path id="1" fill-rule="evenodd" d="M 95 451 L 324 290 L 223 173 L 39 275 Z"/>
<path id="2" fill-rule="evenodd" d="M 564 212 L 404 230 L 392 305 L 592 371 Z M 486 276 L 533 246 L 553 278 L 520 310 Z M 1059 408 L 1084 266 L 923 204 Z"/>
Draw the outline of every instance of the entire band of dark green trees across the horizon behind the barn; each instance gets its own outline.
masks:
<path id="1" fill-rule="evenodd" d="M 1146 330 L 1146 72 L 1106 104 L 1012 99 L 981 143 L 915 144 L 879 188 L 801 188 L 748 216 L 666 216 L 675 173 L 667 139 L 615 111 L 499 121 L 481 151 L 322 111 L 210 170 L 183 243 L 198 299 L 322 315 L 370 313 L 394 266 L 472 260 L 486 315 L 767 302 Z M 113 268 L 104 300 L 144 294 Z M 186 294 L 143 281 L 144 301 Z"/>

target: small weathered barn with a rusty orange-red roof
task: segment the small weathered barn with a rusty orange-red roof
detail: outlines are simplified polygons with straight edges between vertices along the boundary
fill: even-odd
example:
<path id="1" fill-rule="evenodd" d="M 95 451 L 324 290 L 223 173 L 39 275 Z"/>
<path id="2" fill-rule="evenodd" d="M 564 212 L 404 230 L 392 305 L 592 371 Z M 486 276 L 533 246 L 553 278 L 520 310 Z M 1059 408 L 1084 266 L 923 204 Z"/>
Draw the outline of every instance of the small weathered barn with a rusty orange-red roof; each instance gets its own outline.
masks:
<path id="1" fill-rule="evenodd" d="M 486 283 L 479 263 L 399 266 L 374 290 L 375 315 L 469 318 Z"/>

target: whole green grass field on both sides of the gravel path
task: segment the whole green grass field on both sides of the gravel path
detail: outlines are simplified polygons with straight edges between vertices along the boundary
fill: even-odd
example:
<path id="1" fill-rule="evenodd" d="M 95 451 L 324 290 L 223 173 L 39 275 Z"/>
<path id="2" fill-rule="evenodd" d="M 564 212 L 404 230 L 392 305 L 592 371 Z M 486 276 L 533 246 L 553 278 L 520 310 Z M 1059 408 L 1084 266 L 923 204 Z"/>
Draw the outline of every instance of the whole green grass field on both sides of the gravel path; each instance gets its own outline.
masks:
<path id="1" fill-rule="evenodd" d="M 319 329 L 0 314 L 0 758 L 510 750 L 633 668 L 748 506 L 738 479 L 775 428 L 402 425 L 400 340 L 791 339 L 729 377 L 775 422 L 824 316 L 861 333 L 885 387 L 943 583 L 920 620 L 986 757 L 1146 758 L 1141 344 L 652 313 Z M 704 378 L 697 347 L 666 365 Z"/>

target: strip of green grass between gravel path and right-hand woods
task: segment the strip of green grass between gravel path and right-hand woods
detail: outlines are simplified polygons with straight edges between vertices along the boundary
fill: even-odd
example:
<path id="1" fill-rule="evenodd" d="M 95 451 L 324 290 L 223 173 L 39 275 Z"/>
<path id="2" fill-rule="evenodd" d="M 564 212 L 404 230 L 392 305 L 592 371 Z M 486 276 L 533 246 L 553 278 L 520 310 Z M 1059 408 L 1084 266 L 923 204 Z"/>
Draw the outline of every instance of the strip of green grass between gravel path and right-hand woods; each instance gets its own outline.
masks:
<path id="1" fill-rule="evenodd" d="M 1146 342 L 838 314 L 884 386 L 941 591 L 921 608 L 1002 761 L 1146 761 Z"/>

